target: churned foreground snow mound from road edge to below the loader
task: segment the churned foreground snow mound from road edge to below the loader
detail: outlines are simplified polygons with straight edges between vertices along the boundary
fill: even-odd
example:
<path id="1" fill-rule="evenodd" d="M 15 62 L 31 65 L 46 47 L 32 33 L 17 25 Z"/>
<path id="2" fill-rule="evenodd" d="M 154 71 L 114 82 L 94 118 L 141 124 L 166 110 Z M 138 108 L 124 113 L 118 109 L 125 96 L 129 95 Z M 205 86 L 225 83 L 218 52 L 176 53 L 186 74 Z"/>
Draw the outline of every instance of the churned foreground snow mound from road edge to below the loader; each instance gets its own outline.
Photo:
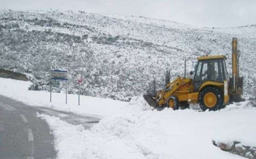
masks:
<path id="1" fill-rule="evenodd" d="M 89 130 L 56 117 L 38 117 L 53 131 L 59 158 L 233 159 L 240 157 L 221 151 L 212 141 L 256 145 L 256 108 L 230 105 L 216 112 L 151 111 L 141 102 L 133 99 L 124 107 L 126 112 L 105 116 Z"/>

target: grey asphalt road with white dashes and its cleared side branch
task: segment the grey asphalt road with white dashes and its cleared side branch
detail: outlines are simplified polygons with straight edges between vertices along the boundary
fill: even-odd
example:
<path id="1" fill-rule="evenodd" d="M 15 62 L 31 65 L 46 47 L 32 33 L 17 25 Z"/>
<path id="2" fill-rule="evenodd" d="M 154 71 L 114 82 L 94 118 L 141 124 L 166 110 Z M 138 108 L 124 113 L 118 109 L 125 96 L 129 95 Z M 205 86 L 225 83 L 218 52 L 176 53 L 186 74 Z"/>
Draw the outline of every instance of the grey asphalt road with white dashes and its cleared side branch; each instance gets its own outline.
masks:
<path id="1" fill-rule="evenodd" d="M 0 95 L 0 159 L 56 158 L 54 136 L 48 124 L 36 113 L 58 116 L 85 129 L 99 118 L 82 116 L 51 108 L 33 107 Z"/>

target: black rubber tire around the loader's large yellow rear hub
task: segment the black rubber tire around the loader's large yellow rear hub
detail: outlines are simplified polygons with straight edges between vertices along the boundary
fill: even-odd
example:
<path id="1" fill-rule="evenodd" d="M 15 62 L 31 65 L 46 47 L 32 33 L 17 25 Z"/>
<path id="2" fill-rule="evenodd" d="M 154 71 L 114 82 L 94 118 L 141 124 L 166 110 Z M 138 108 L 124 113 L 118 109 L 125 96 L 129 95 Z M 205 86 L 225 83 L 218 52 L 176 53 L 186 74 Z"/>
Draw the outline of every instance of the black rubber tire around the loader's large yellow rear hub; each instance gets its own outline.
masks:
<path id="1" fill-rule="evenodd" d="M 207 107 L 207 105 L 204 103 L 204 96 L 205 96 L 205 94 L 207 94 L 209 92 L 215 94 L 215 96 L 217 97 L 216 104 L 211 108 Z M 217 110 L 223 108 L 223 102 L 224 102 L 224 95 L 217 87 L 208 86 L 208 87 L 203 88 L 203 90 L 200 91 L 200 93 L 199 93 L 199 105 L 203 111 L 205 111 L 207 109 L 209 109 L 209 111 L 217 111 Z"/>

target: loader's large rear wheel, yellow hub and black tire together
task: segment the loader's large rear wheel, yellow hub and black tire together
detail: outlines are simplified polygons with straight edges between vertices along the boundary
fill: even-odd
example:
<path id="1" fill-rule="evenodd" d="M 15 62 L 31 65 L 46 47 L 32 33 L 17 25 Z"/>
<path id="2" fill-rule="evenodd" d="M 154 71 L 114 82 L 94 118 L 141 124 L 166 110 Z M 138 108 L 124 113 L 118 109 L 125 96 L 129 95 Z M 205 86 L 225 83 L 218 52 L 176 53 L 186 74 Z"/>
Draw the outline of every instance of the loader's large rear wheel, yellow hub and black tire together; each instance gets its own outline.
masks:
<path id="1" fill-rule="evenodd" d="M 223 107 L 223 93 L 216 87 L 208 86 L 199 93 L 199 104 L 203 111 L 216 111 Z"/>

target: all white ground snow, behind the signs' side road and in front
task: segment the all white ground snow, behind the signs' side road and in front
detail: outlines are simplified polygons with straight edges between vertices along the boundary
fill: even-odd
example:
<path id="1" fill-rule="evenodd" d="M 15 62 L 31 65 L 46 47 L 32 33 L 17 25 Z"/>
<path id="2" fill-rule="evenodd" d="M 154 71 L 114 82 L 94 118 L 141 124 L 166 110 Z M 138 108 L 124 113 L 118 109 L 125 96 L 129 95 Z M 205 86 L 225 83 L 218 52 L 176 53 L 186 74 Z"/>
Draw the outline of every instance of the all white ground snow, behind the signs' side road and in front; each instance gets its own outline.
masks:
<path id="1" fill-rule="evenodd" d="M 58 158 L 241 158 L 220 150 L 215 141 L 240 141 L 256 146 L 256 108 L 248 101 L 216 112 L 195 109 L 152 111 L 141 97 L 128 102 L 77 95 L 29 91 L 30 82 L 0 78 L 0 95 L 33 106 L 101 117 L 88 130 L 60 118 L 37 114 L 47 121 L 55 137 Z"/>

